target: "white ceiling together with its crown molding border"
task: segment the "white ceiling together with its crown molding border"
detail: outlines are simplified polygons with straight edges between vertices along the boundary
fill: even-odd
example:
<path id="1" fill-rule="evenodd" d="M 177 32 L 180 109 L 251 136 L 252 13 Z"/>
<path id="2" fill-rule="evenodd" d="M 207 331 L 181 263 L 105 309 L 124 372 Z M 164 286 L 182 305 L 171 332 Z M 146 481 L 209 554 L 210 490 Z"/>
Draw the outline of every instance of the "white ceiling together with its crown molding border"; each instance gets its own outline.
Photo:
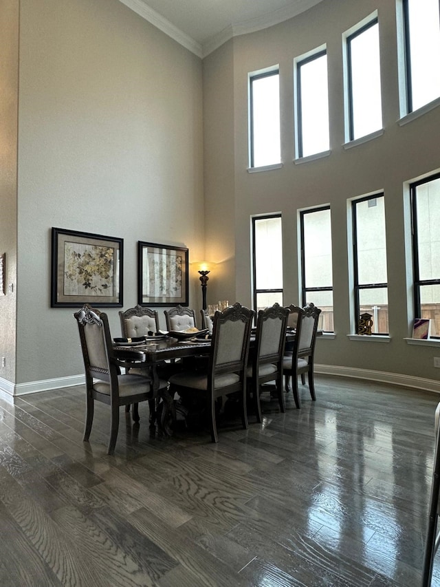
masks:
<path id="1" fill-rule="evenodd" d="M 120 1 L 203 57 L 232 36 L 281 23 L 322 0 Z"/>

